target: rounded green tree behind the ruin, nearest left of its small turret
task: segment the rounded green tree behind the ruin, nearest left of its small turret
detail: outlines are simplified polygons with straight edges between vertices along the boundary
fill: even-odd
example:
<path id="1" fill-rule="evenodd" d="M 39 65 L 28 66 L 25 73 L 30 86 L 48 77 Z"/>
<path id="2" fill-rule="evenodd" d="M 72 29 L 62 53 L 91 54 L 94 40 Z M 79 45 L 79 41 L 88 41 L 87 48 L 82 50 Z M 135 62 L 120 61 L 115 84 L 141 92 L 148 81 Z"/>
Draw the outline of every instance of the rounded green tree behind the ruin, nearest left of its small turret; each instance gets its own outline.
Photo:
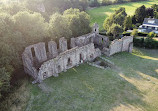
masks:
<path id="1" fill-rule="evenodd" d="M 80 12 L 79 9 L 68 9 L 64 11 L 64 17 L 68 20 L 68 26 L 72 31 L 72 36 L 77 37 L 87 34 L 91 31 L 90 16 L 86 12 Z"/>

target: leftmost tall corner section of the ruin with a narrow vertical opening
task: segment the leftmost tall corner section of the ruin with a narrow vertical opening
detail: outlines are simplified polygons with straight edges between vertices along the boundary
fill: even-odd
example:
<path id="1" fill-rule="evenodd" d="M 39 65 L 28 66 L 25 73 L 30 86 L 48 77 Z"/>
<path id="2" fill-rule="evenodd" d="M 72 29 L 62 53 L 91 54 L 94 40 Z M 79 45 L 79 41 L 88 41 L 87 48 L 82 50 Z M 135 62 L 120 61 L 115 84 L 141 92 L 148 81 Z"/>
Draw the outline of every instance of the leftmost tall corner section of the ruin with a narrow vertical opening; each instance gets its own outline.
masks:
<path id="1" fill-rule="evenodd" d="M 34 78 L 37 77 L 37 67 L 47 60 L 45 43 L 40 42 L 25 48 L 22 54 L 24 70 Z"/>

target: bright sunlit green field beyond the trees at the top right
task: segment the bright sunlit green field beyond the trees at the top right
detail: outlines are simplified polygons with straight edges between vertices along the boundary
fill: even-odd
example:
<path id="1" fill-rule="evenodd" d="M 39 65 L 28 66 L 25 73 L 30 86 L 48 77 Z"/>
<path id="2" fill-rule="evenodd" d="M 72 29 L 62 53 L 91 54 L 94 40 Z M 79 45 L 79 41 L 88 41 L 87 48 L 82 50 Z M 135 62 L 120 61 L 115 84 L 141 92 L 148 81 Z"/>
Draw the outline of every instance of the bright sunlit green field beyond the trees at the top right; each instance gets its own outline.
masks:
<path id="1" fill-rule="evenodd" d="M 91 25 L 97 22 L 100 26 L 100 30 L 102 30 L 103 22 L 105 18 L 108 17 L 110 14 L 112 14 L 116 9 L 120 7 L 124 7 L 126 8 L 126 12 L 128 15 L 133 15 L 137 7 L 140 7 L 141 5 L 150 7 L 153 4 L 158 4 L 158 0 L 148 0 L 141 2 L 130 2 L 125 4 L 119 4 L 119 5 L 102 6 L 99 8 L 87 10 L 87 12 L 91 16 Z"/>

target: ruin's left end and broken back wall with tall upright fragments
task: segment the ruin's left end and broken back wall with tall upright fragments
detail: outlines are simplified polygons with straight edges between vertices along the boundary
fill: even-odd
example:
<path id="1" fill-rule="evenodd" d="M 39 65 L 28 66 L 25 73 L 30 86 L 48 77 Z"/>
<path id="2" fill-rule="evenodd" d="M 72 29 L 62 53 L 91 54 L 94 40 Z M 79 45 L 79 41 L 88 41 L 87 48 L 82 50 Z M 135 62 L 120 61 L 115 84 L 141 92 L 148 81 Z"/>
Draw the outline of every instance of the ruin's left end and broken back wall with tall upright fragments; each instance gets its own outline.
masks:
<path id="1" fill-rule="evenodd" d="M 46 52 L 46 48 L 48 52 Z M 37 78 L 38 69 L 43 62 L 57 57 L 60 52 L 67 50 L 67 40 L 60 38 L 59 49 L 54 41 L 48 42 L 48 47 L 44 42 L 30 45 L 25 48 L 22 54 L 23 66 L 26 73 Z"/>

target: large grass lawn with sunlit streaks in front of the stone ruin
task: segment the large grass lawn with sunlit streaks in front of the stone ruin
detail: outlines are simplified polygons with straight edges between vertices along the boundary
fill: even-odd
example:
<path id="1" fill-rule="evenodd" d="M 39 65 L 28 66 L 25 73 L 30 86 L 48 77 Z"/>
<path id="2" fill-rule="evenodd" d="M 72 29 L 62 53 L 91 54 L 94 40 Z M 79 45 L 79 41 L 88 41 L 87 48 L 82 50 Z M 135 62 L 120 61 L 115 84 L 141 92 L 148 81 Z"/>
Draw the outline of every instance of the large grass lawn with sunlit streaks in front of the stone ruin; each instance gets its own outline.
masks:
<path id="1" fill-rule="evenodd" d="M 158 50 L 135 49 L 108 59 L 120 71 L 80 65 L 44 81 L 51 93 L 31 88 L 26 111 L 158 110 Z"/>

